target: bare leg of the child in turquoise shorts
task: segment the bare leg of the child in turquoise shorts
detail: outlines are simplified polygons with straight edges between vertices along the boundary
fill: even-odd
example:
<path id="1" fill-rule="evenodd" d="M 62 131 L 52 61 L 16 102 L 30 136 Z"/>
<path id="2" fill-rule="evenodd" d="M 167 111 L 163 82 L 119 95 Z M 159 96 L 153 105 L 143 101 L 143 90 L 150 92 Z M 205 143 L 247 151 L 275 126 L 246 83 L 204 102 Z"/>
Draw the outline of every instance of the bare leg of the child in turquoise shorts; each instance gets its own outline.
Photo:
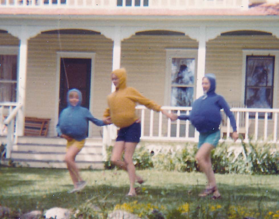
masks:
<path id="1" fill-rule="evenodd" d="M 196 154 L 196 161 L 198 162 L 198 165 L 202 170 L 202 172 L 206 175 L 206 178 L 208 180 L 208 188 L 215 187 L 216 190 L 214 192 L 214 195 L 219 196 L 214 172 L 212 169 L 211 157 L 210 157 L 210 153 L 212 149 L 214 149 L 213 145 L 209 143 L 204 143 Z"/>

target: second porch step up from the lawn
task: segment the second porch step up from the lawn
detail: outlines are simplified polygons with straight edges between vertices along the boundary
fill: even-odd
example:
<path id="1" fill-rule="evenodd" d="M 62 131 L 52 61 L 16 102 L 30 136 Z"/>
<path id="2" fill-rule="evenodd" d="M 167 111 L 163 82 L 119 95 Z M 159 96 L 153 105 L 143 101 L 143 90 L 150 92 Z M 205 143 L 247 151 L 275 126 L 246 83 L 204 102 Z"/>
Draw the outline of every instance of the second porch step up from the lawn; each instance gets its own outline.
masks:
<path id="1" fill-rule="evenodd" d="M 64 152 L 37 152 L 37 151 L 12 151 L 11 159 L 21 160 L 43 160 L 43 161 L 64 161 Z M 76 157 L 76 161 L 102 161 L 102 153 L 79 153 Z"/>

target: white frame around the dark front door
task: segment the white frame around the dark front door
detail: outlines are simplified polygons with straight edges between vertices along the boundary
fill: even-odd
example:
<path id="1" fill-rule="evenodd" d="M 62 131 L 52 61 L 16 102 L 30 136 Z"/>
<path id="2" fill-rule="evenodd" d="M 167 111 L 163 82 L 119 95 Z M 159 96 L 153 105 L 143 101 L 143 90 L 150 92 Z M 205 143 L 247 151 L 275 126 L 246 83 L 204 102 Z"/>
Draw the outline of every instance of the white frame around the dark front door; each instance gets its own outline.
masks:
<path id="1" fill-rule="evenodd" d="M 55 97 L 55 122 L 54 130 L 56 132 L 56 124 L 59 117 L 59 90 L 60 90 L 60 60 L 61 58 L 91 58 L 91 80 L 90 80 L 90 98 L 89 98 L 89 111 L 93 109 L 93 83 L 94 83 L 94 69 L 95 69 L 95 52 L 56 52 L 56 97 Z M 88 137 L 92 137 L 92 123 L 89 123 Z"/>

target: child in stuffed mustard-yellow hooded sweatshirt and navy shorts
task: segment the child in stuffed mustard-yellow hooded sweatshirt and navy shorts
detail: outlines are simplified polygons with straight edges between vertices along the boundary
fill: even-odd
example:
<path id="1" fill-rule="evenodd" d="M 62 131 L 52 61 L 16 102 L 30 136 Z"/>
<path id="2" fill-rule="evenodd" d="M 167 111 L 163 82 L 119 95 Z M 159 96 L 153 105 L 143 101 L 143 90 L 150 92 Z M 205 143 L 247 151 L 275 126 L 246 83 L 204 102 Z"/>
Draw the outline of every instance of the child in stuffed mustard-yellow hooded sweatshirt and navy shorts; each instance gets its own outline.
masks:
<path id="1" fill-rule="evenodd" d="M 111 73 L 111 79 L 116 90 L 108 95 L 108 108 L 104 112 L 104 121 L 107 123 L 112 122 L 120 127 L 110 160 L 128 172 L 130 190 L 127 195 L 135 196 L 135 182 L 143 183 L 143 179 L 136 175 L 132 160 L 141 136 L 141 125 L 136 115 L 136 105 L 141 104 L 148 109 L 153 109 L 157 112 L 161 111 L 170 119 L 173 119 L 173 114 L 161 109 L 161 106 L 142 96 L 136 89 L 127 87 L 126 78 L 127 73 L 124 68 L 114 70 Z M 123 151 L 124 161 L 121 159 Z"/>

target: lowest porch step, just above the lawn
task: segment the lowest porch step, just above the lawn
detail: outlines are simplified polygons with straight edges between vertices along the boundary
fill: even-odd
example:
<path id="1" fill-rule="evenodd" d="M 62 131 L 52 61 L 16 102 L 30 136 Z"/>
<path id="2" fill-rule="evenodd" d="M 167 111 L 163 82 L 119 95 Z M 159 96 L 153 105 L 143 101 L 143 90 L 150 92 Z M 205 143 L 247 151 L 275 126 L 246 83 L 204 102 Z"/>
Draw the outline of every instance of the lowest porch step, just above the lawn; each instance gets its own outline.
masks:
<path id="1" fill-rule="evenodd" d="M 9 159 L 2 161 L 6 165 L 9 163 Z M 20 167 L 34 167 L 34 168 L 67 168 L 64 161 L 55 160 L 24 160 L 24 159 L 13 159 L 13 163 Z M 104 163 L 102 161 L 76 161 L 79 169 L 104 169 Z"/>

